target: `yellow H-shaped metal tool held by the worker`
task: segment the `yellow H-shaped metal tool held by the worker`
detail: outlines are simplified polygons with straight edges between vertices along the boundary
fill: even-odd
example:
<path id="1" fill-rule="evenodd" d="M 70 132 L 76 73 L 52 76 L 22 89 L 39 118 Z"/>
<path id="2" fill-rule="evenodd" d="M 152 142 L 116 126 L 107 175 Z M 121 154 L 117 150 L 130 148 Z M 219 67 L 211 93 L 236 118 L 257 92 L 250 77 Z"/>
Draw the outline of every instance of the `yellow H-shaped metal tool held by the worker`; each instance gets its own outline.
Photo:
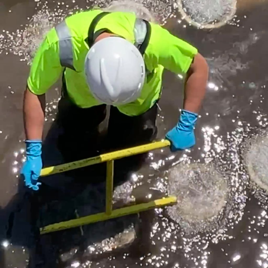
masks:
<path id="1" fill-rule="evenodd" d="M 152 209 L 154 207 L 167 206 L 171 204 L 175 204 L 177 202 L 177 198 L 175 196 L 168 196 L 166 198 L 157 199 L 154 201 L 150 201 L 148 203 L 142 203 L 137 205 L 132 205 L 128 207 L 124 207 L 121 209 L 112 209 L 112 199 L 113 199 L 113 174 L 114 174 L 114 160 L 120 159 L 123 157 L 128 157 L 131 155 L 141 154 L 144 152 L 148 152 L 151 150 L 163 148 L 170 146 L 170 142 L 168 140 L 162 140 L 159 142 L 153 142 L 141 146 L 136 146 L 124 150 L 119 150 L 115 152 L 110 152 L 107 154 L 102 154 L 97 157 L 91 157 L 71 163 L 66 163 L 58 166 L 52 166 L 49 168 L 44 168 L 41 170 L 41 176 L 48 176 L 60 172 L 65 172 L 72 169 L 82 168 L 85 166 L 90 166 L 102 162 L 107 162 L 107 170 L 106 170 L 106 210 L 103 213 L 97 213 L 94 215 L 89 215 L 86 217 L 81 217 L 78 219 L 73 219 L 70 221 L 59 222 L 55 224 L 51 224 L 45 227 L 40 228 L 40 233 L 49 233 L 55 232 L 58 230 L 69 229 L 73 227 L 78 227 L 85 224 L 90 224 L 98 221 L 105 221 L 111 218 L 117 218 L 124 215 L 135 214 L 140 211 L 144 211 L 147 209 Z"/>

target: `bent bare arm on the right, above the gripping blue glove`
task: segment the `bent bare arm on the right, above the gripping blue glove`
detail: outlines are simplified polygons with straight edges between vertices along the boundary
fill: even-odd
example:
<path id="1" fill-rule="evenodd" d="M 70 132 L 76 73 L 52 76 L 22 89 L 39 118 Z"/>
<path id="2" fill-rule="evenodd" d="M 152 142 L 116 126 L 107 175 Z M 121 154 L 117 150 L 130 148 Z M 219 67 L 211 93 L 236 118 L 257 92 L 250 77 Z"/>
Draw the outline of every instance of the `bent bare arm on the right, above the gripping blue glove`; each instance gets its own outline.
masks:
<path id="1" fill-rule="evenodd" d="M 184 109 L 198 113 L 204 96 L 208 79 L 208 66 L 205 59 L 198 54 L 188 72 L 185 83 Z"/>

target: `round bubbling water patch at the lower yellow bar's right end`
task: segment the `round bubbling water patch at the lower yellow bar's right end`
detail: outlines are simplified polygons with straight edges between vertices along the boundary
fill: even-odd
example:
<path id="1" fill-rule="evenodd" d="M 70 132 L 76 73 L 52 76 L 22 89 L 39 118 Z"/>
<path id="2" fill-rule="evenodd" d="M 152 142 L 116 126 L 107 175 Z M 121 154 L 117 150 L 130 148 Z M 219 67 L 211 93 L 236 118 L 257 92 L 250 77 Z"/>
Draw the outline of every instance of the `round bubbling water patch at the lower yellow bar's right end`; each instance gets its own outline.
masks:
<path id="1" fill-rule="evenodd" d="M 168 207 L 170 218 L 186 233 L 202 232 L 217 222 L 228 198 L 228 184 L 213 165 L 180 164 L 170 170 L 168 192 L 178 199 Z"/>

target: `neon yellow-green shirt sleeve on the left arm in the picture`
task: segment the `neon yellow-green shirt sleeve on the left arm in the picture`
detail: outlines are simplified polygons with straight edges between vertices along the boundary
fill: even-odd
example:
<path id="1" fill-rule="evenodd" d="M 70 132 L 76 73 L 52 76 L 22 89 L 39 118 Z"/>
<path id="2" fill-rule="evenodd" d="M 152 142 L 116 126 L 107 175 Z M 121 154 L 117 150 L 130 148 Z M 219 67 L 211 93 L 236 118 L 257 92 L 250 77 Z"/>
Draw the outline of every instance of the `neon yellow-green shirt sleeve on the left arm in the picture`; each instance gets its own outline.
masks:
<path id="1" fill-rule="evenodd" d="M 29 90 L 36 95 L 46 93 L 59 79 L 62 70 L 59 59 L 58 37 L 53 28 L 46 35 L 33 58 L 27 80 Z"/>

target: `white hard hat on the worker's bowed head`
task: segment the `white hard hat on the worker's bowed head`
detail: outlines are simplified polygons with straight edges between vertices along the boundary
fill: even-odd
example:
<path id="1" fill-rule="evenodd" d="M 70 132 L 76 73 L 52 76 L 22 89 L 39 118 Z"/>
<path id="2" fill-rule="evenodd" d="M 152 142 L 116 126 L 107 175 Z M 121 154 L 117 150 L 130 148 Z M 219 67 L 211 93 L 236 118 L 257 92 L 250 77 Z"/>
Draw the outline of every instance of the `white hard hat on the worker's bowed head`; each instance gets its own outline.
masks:
<path id="1" fill-rule="evenodd" d="M 108 105 L 122 105 L 140 96 L 145 64 L 132 43 L 110 36 L 96 42 L 88 51 L 85 75 L 96 99 Z"/>

